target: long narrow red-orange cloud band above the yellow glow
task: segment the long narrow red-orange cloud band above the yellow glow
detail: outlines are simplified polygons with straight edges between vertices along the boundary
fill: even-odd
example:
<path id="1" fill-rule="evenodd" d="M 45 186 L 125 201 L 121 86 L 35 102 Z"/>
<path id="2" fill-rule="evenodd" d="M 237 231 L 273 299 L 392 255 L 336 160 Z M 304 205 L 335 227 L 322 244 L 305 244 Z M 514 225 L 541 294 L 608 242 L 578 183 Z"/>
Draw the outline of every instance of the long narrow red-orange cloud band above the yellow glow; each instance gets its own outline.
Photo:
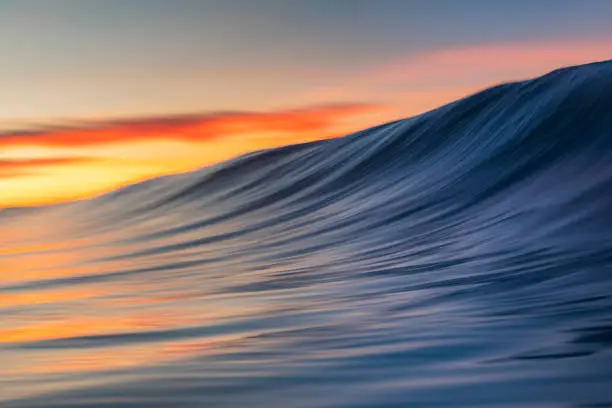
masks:
<path id="1" fill-rule="evenodd" d="M 339 120 L 381 108 L 378 105 L 338 104 L 269 113 L 236 112 L 108 121 L 76 128 L 5 132 L 0 135 L 0 146 L 73 147 L 152 139 L 212 141 L 255 132 L 310 132 L 317 135 L 327 133 Z"/>

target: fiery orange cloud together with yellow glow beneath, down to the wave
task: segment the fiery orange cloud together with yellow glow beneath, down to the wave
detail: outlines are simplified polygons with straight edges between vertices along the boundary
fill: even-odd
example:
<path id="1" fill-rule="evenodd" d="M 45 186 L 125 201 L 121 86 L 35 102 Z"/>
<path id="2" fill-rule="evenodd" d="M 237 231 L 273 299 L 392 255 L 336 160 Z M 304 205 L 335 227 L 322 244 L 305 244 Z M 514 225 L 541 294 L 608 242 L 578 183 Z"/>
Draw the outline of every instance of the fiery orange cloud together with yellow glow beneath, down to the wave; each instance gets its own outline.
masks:
<path id="1" fill-rule="evenodd" d="M 91 197 L 248 153 L 342 136 L 384 107 L 320 105 L 278 112 L 137 118 L 0 134 L 0 207 Z"/>

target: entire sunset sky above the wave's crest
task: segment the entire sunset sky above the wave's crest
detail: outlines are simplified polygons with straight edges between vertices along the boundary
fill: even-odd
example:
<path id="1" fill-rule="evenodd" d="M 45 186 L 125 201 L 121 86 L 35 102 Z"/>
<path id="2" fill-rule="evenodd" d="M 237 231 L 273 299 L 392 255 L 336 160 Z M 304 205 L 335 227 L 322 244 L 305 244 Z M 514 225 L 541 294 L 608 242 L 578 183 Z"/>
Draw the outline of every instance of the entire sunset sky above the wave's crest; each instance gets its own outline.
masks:
<path id="1" fill-rule="evenodd" d="M 608 0 L 0 0 L 0 208 L 612 58 Z"/>

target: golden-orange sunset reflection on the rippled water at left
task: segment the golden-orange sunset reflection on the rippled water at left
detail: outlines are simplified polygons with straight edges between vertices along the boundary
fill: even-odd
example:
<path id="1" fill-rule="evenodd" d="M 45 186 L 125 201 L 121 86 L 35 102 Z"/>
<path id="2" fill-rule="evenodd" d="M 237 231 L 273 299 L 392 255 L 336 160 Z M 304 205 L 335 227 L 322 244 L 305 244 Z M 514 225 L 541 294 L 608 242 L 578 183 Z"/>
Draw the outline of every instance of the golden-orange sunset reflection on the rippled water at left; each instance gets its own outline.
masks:
<path id="1" fill-rule="evenodd" d="M 19 219 L 9 219 L 0 230 L 0 242 L 5 244 L 0 253 L 0 376 L 5 382 L 17 382 L 8 387 L 6 397 L 86 384 L 88 380 L 80 377 L 87 373 L 142 369 L 239 350 L 249 336 L 257 334 L 208 333 L 206 327 L 263 315 L 266 307 L 214 294 L 214 286 L 198 286 L 195 281 L 190 285 L 189 279 L 197 275 L 189 278 L 166 271 L 133 279 L 108 278 L 116 272 L 146 268 L 165 257 L 112 260 L 128 248 L 142 249 L 137 243 L 104 245 L 124 238 L 122 230 L 96 238 L 75 234 L 70 241 L 53 240 L 78 229 L 80 218 L 78 212 L 74 214 L 72 218 L 61 210 L 32 214 L 33 220 L 40 217 L 41 222 L 23 228 Z M 96 277 L 103 280 L 96 282 Z M 196 334 L 186 338 L 172 334 L 185 330 Z M 203 330 L 201 336 L 198 330 Z M 153 339 L 129 340 L 139 335 Z M 75 346 L 63 347 L 65 341 Z M 77 377 L 60 384 L 53 380 L 69 374 Z M 19 384 L 38 386 L 33 392 Z"/>

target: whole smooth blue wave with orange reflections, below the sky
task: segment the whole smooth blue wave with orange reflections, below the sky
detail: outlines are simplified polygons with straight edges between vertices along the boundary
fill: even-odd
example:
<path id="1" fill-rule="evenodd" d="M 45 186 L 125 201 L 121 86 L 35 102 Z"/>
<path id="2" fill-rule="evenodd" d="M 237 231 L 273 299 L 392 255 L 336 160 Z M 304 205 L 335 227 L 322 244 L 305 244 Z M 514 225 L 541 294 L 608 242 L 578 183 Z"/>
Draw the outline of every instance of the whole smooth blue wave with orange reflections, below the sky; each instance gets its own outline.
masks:
<path id="1" fill-rule="evenodd" d="M 0 222 L 6 408 L 612 406 L 612 62 Z"/>

